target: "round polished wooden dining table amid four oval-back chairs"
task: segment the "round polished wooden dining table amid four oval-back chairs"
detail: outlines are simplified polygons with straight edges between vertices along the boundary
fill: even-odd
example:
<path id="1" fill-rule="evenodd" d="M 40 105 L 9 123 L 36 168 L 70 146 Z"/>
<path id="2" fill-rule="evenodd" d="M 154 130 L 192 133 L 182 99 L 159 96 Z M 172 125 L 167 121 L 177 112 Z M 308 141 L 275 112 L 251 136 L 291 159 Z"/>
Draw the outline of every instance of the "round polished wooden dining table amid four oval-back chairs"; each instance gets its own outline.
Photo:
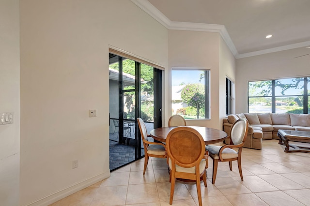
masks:
<path id="1" fill-rule="evenodd" d="M 208 127 L 198 127 L 198 126 L 187 126 L 197 130 L 204 140 L 206 145 L 218 143 L 224 141 L 227 138 L 227 133 L 221 130 L 208 128 Z M 166 137 L 168 133 L 175 127 L 160 127 L 152 130 L 150 135 L 157 141 L 166 142 Z"/>

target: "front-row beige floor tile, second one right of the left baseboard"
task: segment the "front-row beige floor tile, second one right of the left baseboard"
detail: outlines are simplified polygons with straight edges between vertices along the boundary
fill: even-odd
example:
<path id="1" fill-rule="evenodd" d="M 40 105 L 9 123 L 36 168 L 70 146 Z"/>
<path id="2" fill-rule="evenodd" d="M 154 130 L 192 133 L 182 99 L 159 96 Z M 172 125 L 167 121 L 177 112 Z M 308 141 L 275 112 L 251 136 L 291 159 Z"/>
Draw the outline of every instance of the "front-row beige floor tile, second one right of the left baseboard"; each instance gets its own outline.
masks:
<path id="1" fill-rule="evenodd" d="M 128 186 L 111 186 L 98 188 L 90 206 L 125 205 Z"/>

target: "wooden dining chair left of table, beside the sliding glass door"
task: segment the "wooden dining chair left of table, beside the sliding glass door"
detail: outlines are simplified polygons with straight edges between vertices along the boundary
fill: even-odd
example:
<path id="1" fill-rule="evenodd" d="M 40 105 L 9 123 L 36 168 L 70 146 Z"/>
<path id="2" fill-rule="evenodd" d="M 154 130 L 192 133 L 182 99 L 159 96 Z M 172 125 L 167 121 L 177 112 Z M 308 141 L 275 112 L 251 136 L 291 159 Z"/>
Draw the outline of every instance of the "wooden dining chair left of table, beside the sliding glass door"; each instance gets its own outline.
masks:
<path id="1" fill-rule="evenodd" d="M 158 158 L 166 158 L 166 147 L 164 144 L 159 142 L 150 142 L 148 141 L 148 137 L 150 135 L 147 134 L 146 126 L 144 121 L 141 118 L 138 118 L 138 125 L 141 133 L 141 138 L 144 147 L 144 169 L 143 175 L 145 175 L 146 166 L 149 162 L 149 157 L 158 157 Z"/>

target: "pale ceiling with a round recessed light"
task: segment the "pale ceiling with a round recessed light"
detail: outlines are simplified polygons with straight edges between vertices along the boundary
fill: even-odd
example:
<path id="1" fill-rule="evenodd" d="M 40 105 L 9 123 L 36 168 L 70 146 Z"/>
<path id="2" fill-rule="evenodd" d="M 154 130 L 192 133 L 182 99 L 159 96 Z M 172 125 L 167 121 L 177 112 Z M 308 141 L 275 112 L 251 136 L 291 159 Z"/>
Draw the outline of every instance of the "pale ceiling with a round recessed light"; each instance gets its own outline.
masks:
<path id="1" fill-rule="evenodd" d="M 237 58 L 310 46 L 310 0 L 132 1 L 169 29 L 218 28 Z"/>

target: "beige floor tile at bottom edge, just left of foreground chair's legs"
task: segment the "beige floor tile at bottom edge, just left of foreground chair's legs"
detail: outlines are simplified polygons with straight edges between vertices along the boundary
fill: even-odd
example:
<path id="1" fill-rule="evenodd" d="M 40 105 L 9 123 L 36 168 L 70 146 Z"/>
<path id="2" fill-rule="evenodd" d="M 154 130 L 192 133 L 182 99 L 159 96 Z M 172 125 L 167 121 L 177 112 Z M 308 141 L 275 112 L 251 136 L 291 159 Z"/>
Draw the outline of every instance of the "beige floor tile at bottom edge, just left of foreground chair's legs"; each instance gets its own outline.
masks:
<path id="1" fill-rule="evenodd" d="M 126 205 L 159 202 L 155 183 L 128 185 Z"/>

